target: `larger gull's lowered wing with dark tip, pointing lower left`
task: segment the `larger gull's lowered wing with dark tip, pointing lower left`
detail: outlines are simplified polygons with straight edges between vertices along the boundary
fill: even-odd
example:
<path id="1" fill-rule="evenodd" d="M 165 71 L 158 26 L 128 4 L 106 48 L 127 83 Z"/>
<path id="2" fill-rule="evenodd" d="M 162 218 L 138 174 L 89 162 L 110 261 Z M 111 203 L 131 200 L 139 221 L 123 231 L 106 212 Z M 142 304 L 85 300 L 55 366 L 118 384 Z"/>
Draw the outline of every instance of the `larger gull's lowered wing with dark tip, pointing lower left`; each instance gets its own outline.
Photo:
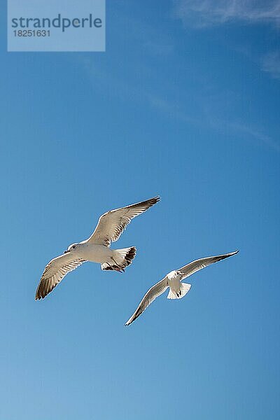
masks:
<path id="1" fill-rule="evenodd" d="M 67 273 L 73 271 L 73 269 L 83 264 L 83 262 L 85 262 L 85 260 L 77 258 L 76 255 L 71 253 L 59 255 L 59 257 L 51 260 L 48 265 L 45 266 L 40 283 L 38 283 L 35 300 L 43 299 L 60 281 L 62 281 Z"/>

